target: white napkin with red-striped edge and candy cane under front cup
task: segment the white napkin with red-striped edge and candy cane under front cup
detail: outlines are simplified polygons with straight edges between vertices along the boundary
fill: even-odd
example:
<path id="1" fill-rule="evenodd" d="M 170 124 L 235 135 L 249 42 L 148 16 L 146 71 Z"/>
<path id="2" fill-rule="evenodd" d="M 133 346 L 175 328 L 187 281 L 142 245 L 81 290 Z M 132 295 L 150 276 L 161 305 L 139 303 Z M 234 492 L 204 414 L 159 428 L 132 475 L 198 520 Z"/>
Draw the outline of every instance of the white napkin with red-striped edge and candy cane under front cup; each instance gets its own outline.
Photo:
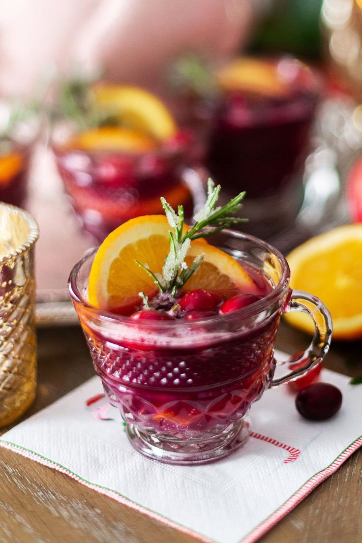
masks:
<path id="1" fill-rule="evenodd" d="M 171 466 L 142 457 L 116 408 L 104 399 L 86 407 L 102 392 L 98 377 L 12 428 L 0 445 L 201 541 L 250 543 L 362 445 L 362 387 L 326 369 L 322 380 L 343 394 L 332 419 L 304 420 L 289 388 L 272 388 L 251 408 L 253 433 L 242 449 L 209 465 Z"/>

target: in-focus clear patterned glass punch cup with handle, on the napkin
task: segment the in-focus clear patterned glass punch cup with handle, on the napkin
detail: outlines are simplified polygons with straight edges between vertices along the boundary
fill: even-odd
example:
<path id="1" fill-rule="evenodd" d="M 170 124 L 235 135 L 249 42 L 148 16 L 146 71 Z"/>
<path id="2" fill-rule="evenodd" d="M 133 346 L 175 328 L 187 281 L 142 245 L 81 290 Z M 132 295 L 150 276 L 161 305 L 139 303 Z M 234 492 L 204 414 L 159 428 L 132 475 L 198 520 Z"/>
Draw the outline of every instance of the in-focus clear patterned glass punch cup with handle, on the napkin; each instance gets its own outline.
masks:
<path id="1" fill-rule="evenodd" d="M 258 301 L 195 320 L 132 320 L 87 301 L 96 250 L 75 265 L 69 279 L 105 393 L 120 409 L 132 446 L 160 462 L 202 464 L 236 451 L 250 431 L 251 404 L 264 390 L 319 363 L 331 341 L 328 310 L 315 296 L 289 288 L 289 267 L 280 252 L 233 230 L 207 240 L 243 266 Z M 289 311 L 307 313 L 315 333 L 306 351 L 279 362 L 275 336 Z M 275 378 L 279 365 L 285 371 Z"/>

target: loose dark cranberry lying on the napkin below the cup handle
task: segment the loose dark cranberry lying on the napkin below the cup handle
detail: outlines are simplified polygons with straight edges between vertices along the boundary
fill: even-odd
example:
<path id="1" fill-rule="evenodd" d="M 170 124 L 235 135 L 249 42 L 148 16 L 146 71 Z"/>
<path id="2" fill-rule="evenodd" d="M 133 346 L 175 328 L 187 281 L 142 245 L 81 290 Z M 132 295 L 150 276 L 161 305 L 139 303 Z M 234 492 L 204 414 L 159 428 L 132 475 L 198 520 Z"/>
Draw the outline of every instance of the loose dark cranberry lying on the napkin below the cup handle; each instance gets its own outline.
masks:
<path id="1" fill-rule="evenodd" d="M 339 411 L 341 404 L 341 391 L 328 383 L 310 384 L 295 399 L 296 408 L 309 420 L 329 419 Z"/>

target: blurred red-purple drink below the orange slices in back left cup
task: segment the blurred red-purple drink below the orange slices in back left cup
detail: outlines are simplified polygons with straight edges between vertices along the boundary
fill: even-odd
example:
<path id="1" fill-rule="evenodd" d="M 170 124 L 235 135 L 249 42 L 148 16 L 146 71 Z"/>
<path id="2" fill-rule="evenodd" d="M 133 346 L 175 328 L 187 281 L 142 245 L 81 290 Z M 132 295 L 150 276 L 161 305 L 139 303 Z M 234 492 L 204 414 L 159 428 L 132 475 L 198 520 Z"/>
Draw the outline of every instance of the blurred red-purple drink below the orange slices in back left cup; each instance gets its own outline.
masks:
<path id="1" fill-rule="evenodd" d="M 192 215 L 192 197 L 182 182 L 183 150 L 145 155 L 53 150 L 82 228 L 99 242 L 126 220 L 162 213 L 161 196 L 183 204 L 186 217 Z"/>

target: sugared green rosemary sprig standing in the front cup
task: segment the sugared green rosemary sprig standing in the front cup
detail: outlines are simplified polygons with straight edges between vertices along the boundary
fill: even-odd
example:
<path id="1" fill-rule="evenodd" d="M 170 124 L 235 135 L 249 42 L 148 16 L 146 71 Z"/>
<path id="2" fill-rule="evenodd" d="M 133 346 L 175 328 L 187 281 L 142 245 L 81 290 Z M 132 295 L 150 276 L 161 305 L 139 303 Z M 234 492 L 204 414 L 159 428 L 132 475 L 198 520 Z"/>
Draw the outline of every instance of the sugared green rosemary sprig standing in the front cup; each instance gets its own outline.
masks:
<path id="1" fill-rule="evenodd" d="M 196 256 L 190 267 L 187 266 L 185 261 L 190 243 L 194 239 L 210 236 L 234 223 L 245 222 L 246 219 L 232 217 L 232 214 L 242 207 L 240 201 L 244 198 L 245 192 L 240 192 L 228 204 L 215 207 L 219 193 L 220 185 L 215 187 L 212 179 L 208 179 L 205 205 L 195 214 L 195 224 L 185 232 L 183 231 L 183 206 L 180 205 L 176 213 L 167 201 L 161 198 L 171 228 L 169 231 L 170 250 L 164 261 L 162 273 L 155 273 L 149 269 L 147 264 L 136 261 L 153 278 L 160 292 L 169 292 L 172 296 L 175 296 L 176 292 L 185 285 L 186 281 L 200 267 L 204 255 Z"/>

